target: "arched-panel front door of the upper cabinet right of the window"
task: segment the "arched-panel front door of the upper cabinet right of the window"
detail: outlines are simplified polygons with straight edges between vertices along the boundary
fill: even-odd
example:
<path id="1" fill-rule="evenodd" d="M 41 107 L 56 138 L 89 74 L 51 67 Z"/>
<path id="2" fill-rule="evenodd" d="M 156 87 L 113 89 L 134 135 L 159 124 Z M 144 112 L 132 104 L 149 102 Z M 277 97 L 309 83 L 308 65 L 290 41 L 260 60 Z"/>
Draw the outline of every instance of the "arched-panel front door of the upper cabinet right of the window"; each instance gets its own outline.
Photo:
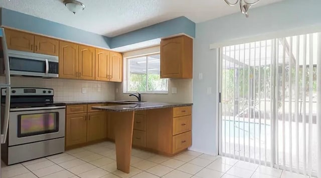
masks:
<path id="1" fill-rule="evenodd" d="M 182 76 L 183 37 L 161 41 L 161 78 Z"/>

